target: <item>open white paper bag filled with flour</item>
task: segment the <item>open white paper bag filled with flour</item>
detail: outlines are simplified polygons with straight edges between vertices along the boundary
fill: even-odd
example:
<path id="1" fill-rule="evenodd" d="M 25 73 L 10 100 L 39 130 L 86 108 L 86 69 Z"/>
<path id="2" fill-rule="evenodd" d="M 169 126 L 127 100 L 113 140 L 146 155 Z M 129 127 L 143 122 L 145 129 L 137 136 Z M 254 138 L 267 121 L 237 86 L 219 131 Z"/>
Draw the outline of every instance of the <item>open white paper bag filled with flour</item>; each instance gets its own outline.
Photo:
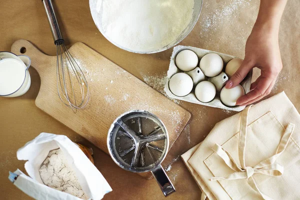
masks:
<path id="1" fill-rule="evenodd" d="M 55 149 L 58 149 L 59 153 Z M 55 157 L 49 157 L 49 152 L 55 152 L 56 154 L 53 155 Z M 28 160 L 25 163 L 25 170 L 30 177 L 17 169 L 13 173 L 10 172 L 9 179 L 20 190 L 35 199 L 97 200 L 102 199 L 104 194 L 112 190 L 103 175 L 86 157 L 83 151 L 65 135 L 40 133 L 33 140 L 18 149 L 16 154 L 17 159 Z M 67 163 L 67 169 L 72 169 L 70 171 L 73 176 L 69 175 L 69 171 L 65 171 L 62 179 L 54 177 L 56 179 L 53 179 L 53 181 L 62 180 L 64 181 L 62 185 L 67 184 L 68 181 L 76 181 L 81 186 L 79 191 L 82 197 L 70 194 L 73 190 L 78 190 L 76 185 L 64 187 L 64 191 L 66 191 L 64 192 L 51 188 L 43 182 L 46 178 L 50 179 L 52 177 L 43 176 L 42 180 L 41 172 L 39 171 L 41 166 L 44 167 L 43 164 L 47 162 L 48 164 L 53 164 L 53 167 L 55 167 L 56 163 L 61 164 L 62 157 Z M 54 158 L 61 160 L 60 162 L 55 162 Z M 63 167 L 63 170 L 65 170 L 65 167 Z M 61 174 L 61 171 L 59 172 Z M 52 179 L 49 181 L 52 181 Z"/>

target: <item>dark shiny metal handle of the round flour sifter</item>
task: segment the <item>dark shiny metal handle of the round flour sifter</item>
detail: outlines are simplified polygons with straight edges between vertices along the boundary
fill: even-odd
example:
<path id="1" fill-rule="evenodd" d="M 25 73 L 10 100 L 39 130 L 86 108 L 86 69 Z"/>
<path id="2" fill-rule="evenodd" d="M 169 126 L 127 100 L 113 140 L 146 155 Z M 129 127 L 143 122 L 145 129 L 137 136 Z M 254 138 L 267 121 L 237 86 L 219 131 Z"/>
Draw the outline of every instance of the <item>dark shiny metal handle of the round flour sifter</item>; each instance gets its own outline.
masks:
<path id="1" fill-rule="evenodd" d="M 176 191 L 173 184 L 171 183 L 170 179 L 167 177 L 165 171 L 163 170 L 160 164 L 157 168 L 153 169 L 151 172 L 154 178 L 156 179 L 164 196 L 167 196 L 170 193 Z"/>

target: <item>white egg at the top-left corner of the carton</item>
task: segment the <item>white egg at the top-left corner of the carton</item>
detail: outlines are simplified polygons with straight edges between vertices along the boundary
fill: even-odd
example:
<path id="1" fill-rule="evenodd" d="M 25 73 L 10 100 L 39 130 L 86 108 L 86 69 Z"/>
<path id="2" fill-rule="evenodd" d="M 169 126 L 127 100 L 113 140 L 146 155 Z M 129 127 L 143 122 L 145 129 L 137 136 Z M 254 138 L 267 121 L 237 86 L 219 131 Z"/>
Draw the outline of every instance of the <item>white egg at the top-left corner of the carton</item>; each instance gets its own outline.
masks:
<path id="1" fill-rule="evenodd" d="M 190 71 L 198 64 L 198 56 L 191 50 L 181 50 L 175 59 L 176 66 L 182 71 Z"/>

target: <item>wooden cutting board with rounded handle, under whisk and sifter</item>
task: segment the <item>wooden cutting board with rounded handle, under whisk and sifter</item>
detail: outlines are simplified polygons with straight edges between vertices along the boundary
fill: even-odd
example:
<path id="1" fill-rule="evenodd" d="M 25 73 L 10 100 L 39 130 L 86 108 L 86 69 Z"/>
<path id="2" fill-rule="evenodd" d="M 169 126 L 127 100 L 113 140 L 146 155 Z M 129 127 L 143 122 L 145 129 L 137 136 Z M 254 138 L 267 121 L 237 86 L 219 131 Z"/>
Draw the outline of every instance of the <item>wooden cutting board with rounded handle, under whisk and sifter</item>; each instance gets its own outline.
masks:
<path id="1" fill-rule="evenodd" d="M 69 51 L 83 71 L 90 91 L 88 104 L 76 113 L 58 97 L 56 56 L 45 55 L 24 39 L 12 44 L 11 52 L 28 55 L 31 66 L 40 76 L 40 89 L 35 100 L 37 107 L 106 153 L 107 132 L 114 119 L 126 111 L 144 109 L 163 121 L 169 133 L 171 148 L 190 119 L 188 111 L 85 44 L 76 42 Z M 151 174 L 142 176 L 150 178 Z"/>

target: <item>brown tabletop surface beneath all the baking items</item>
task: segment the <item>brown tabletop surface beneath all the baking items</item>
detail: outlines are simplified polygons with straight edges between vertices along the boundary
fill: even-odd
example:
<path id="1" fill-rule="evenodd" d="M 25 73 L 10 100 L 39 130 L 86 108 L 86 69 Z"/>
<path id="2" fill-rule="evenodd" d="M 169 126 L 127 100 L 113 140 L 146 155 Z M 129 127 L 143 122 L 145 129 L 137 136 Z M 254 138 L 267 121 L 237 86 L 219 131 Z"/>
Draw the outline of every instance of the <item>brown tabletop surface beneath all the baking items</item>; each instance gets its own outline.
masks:
<path id="1" fill-rule="evenodd" d="M 155 77 L 165 74 L 172 49 L 155 54 L 134 54 L 107 41 L 93 23 L 88 0 L 53 0 L 61 32 L 68 46 L 82 41 L 141 80 L 155 84 Z M 180 43 L 206 48 L 239 57 L 258 11 L 258 0 L 207 0 L 192 32 Z M 283 70 L 270 95 L 285 90 L 296 108 L 300 107 L 300 8 L 299 0 L 289 0 L 280 26 Z M 38 0 L 0 1 L 0 50 L 9 51 L 20 38 L 33 42 L 43 52 L 54 55 L 55 46 L 43 5 Z M 259 49 L 258 49 L 259 50 Z M 55 67 L 55 66 L 53 66 Z M 164 199 L 155 180 L 145 180 L 119 168 L 109 157 L 83 137 L 56 121 L 34 104 L 40 79 L 34 68 L 29 70 L 31 87 L 16 98 L 0 98 L 0 193 L 1 199 L 30 199 L 9 182 L 8 171 L 24 171 L 24 161 L 16 159 L 16 150 L 40 132 L 65 134 L 75 142 L 93 147 L 95 166 L 113 191 L 104 199 Z M 258 71 L 254 73 L 257 77 Z M 150 81 L 149 81 L 150 80 Z M 156 78 L 157 80 L 157 78 Z M 168 199 L 199 199 L 200 189 L 189 174 L 180 154 L 202 141 L 213 125 L 234 114 L 226 110 L 179 102 L 192 113 L 190 124 L 181 133 L 163 162 L 176 192 Z M 221 134 L 221 133 L 220 133 Z"/>

